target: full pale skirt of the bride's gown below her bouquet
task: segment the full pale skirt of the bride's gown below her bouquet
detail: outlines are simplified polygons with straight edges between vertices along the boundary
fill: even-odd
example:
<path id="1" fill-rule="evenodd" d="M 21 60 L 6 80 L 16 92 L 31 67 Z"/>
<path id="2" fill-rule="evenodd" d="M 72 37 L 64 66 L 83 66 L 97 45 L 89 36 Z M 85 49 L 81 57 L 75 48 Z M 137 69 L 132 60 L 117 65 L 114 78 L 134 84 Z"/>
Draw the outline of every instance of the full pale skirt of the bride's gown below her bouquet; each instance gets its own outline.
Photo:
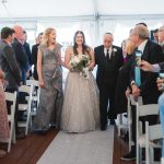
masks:
<path id="1" fill-rule="evenodd" d="M 84 79 L 69 72 L 65 87 L 61 128 L 67 132 L 87 132 L 99 126 L 98 89 L 92 72 Z"/>

